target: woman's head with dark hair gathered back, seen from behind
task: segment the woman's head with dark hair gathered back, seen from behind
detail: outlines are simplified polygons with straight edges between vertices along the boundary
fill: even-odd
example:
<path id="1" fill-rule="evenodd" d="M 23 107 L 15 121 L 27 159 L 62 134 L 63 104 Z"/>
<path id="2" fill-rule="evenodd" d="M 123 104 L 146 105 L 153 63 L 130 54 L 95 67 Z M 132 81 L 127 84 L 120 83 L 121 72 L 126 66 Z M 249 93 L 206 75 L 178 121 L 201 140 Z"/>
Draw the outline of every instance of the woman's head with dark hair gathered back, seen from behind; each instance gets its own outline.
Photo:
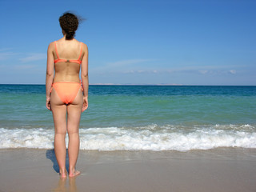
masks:
<path id="1" fill-rule="evenodd" d="M 79 20 L 75 14 L 66 12 L 58 19 L 62 30 L 66 34 L 66 40 L 74 38 L 75 31 L 78 29 Z"/>

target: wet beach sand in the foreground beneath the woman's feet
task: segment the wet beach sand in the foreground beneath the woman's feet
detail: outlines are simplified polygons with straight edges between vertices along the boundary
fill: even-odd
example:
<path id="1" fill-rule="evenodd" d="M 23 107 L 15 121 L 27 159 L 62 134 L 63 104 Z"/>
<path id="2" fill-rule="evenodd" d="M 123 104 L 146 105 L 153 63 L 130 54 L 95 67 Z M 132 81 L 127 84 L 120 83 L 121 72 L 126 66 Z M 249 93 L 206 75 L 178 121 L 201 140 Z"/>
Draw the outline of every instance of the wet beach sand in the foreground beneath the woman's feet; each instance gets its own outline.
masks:
<path id="1" fill-rule="evenodd" d="M 256 150 L 85 151 L 60 179 L 54 150 L 0 150 L 0 191 L 256 191 Z"/>

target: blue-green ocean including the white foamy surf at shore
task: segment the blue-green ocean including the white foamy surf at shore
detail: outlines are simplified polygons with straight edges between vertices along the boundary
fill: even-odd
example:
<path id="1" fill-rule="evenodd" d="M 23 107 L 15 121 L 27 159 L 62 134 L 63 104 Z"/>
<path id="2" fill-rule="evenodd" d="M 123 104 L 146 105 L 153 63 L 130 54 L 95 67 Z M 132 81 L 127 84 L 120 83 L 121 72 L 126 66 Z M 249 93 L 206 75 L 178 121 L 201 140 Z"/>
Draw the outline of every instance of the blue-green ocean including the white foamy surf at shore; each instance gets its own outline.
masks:
<path id="1" fill-rule="evenodd" d="M 54 148 L 44 85 L 0 98 L 0 149 Z M 90 86 L 79 131 L 81 150 L 256 148 L 256 86 Z"/>

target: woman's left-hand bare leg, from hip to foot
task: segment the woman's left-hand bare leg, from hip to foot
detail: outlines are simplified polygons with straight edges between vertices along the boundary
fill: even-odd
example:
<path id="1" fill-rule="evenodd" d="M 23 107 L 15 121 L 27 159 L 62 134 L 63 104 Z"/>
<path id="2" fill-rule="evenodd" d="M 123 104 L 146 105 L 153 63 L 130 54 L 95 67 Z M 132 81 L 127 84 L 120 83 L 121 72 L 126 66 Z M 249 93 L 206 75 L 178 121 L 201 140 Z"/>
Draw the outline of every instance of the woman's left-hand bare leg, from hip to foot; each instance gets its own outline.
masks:
<path id="1" fill-rule="evenodd" d="M 66 178 L 66 105 L 54 89 L 50 96 L 50 106 L 54 117 L 54 151 L 59 166 L 59 174 L 62 178 Z"/>

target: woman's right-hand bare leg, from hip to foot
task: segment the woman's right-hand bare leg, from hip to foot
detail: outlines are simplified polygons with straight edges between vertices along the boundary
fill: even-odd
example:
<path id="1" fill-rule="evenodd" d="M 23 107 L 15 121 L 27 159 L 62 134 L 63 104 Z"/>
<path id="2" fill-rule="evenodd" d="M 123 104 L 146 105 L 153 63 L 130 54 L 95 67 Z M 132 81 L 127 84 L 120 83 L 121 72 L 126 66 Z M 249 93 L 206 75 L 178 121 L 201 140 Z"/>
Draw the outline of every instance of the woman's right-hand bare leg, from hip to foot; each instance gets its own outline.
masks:
<path id="1" fill-rule="evenodd" d="M 69 176 L 74 177 L 80 172 L 75 170 L 79 153 L 79 123 L 82 112 L 82 91 L 79 89 L 74 101 L 67 106 L 67 132 L 69 134 Z"/>

